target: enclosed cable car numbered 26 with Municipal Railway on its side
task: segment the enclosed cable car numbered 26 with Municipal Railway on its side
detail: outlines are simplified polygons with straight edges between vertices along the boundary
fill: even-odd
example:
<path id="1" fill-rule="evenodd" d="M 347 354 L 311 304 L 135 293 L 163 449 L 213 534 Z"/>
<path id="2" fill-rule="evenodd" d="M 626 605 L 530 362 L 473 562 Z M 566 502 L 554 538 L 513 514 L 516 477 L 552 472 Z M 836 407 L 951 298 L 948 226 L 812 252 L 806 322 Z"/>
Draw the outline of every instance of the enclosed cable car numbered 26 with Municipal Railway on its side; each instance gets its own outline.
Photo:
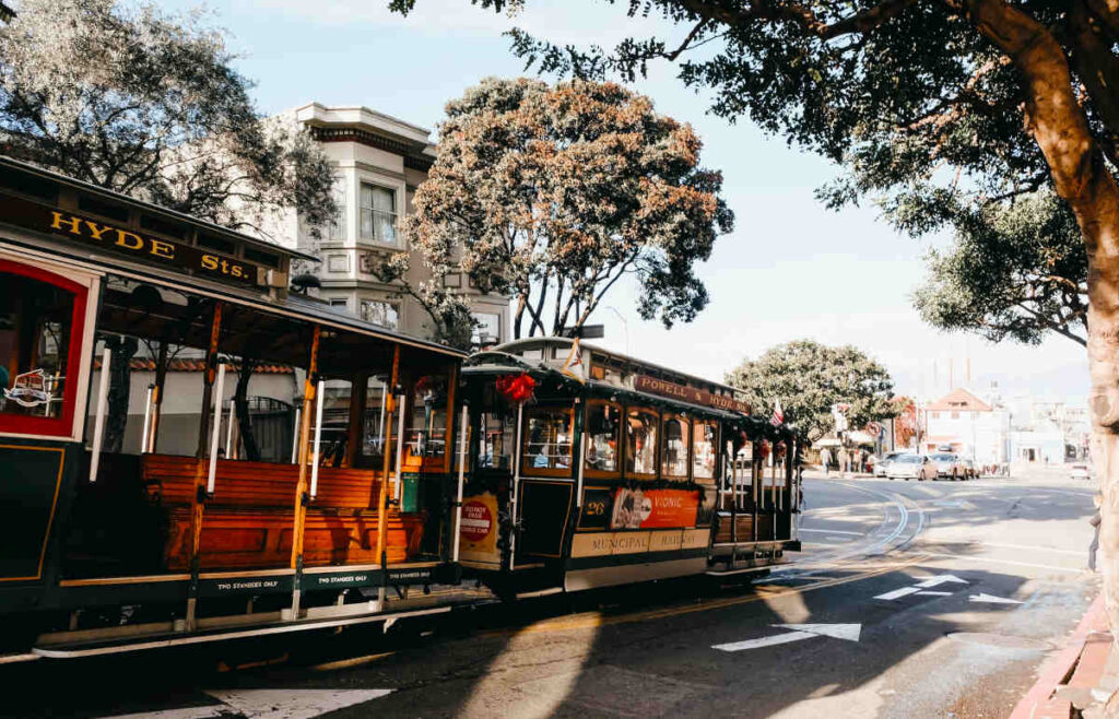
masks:
<path id="1" fill-rule="evenodd" d="M 763 573 L 799 551 L 798 436 L 733 388 L 560 338 L 472 354 L 462 378 L 460 560 L 500 595 Z"/>

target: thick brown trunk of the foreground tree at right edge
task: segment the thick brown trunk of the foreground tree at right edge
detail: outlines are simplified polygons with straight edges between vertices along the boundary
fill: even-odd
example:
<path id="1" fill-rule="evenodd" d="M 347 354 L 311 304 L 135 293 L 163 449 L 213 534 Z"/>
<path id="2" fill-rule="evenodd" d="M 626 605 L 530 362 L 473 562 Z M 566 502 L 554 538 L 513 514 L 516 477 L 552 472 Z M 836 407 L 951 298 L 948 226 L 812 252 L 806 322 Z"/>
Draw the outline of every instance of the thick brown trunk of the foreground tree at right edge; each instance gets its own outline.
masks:
<path id="1" fill-rule="evenodd" d="M 970 0 L 968 10 L 979 31 L 1022 73 L 1029 130 L 1084 237 L 1092 463 L 1103 495 L 1103 596 L 1110 624 L 1119 627 L 1119 187 L 1073 92 L 1069 60 L 1049 28 L 1004 0 Z"/>

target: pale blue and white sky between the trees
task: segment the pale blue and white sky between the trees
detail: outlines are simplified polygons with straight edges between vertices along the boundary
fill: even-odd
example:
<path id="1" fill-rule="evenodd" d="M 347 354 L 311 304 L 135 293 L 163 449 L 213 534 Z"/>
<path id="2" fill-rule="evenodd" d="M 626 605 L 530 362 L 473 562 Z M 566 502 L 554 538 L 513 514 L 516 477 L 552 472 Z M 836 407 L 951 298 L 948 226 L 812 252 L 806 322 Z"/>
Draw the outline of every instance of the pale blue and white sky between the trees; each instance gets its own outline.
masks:
<path id="1" fill-rule="evenodd" d="M 444 103 L 487 76 L 532 74 L 502 32 L 520 27 L 557 42 L 611 46 L 621 37 L 679 30 L 626 17 L 627 3 L 528 0 L 516 17 L 468 0 L 419 0 L 407 17 L 387 0 L 210 0 L 207 25 L 229 34 L 238 69 L 256 83 L 260 110 L 307 104 L 365 105 L 435 130 Z M 192 0 L 161 0 L 172 11 Z M 711 294 L 692 323 L 666 330 L 642 321 L 632 286 L 619 286 L 592 322 L 595 343 L 693 375 L 721 380 L 743 359 L 810 338 L 852 343 L 882 362 L 899 394 L 934 398 L 956 385 L 1006 396 L 1029 392 L 1083 404 L 1088 361 L 1082 347 L 1055 338 L 1041 347 L 946 334 L 923 324 L 911 295 L 924 274 L 924 243 L 899 236 L 873 207 L 833 212 L 814 190 L 837 174 L 820 158 L 767 136 L 747 119 L 732 124 L 707 113 L 703 94 L 655 66 L 634 88 L 658 112 L 690 123 L 704 141 L 703 163 L 724 176 L 723 196 L 735 230 L 698 268 Z M 965 367 L 970 365 L 970 384 Z"/>

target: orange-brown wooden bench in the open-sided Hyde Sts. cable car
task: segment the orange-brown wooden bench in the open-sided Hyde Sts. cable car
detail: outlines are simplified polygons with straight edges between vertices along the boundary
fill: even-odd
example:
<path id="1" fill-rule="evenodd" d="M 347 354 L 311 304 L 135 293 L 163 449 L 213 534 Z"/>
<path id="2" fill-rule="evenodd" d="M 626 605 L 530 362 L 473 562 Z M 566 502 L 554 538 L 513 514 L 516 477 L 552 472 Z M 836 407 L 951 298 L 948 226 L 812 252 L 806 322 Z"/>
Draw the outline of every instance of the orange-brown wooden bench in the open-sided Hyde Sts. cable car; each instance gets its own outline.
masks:
<path id="1" fill-rule="evenodd" d="M 171 571 L 189 568 L 190 507 L 208 462 L 195 457 L 144 455 L 142 476 L 167 511 L 164 561 Z M 214 496 L 206 502 L 199 538 L 199 566 L 206 570 L 276 568 L 291 562 L 299 466 L 218 460 Z M 318 496 L 309 505 L 303 564 L 309 567 L 376 564 L 379 472 L 319 467 Z M 420 551 L 423 514 L 388 512 L 389 562 Z"/>

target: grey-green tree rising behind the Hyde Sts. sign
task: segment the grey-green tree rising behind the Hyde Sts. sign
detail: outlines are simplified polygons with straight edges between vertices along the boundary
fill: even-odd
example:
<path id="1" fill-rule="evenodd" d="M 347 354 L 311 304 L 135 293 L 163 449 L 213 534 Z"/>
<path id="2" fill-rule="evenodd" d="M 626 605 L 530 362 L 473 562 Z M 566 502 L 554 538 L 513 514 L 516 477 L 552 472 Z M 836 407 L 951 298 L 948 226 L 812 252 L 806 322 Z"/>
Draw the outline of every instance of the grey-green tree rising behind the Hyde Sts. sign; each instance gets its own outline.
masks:
<path id="1" fill-rule="evenodd" d="M 265 122 L 223 36 L 116 0 L 23 0 L 0 27 L 3 152 L 234 229 L 294 207 L 312 234 L 332 171 L 305 131 Z M 317 236 L 317 235 L 316 235 Z"/>

